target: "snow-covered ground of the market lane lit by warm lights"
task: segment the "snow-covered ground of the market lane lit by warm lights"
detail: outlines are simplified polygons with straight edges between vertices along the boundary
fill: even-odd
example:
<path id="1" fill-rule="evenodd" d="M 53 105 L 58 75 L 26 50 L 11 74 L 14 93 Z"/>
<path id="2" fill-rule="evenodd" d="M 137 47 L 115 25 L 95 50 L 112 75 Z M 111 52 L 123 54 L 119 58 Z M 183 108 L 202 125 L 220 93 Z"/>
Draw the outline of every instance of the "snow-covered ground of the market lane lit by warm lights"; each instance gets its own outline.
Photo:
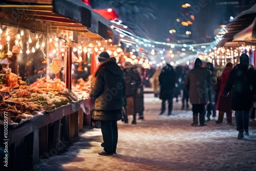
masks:
<path id="1" fill-rule="evenodd" d="M 193 127 L 191 106 L 181 111 L 174 102 L 173 115 L 158 116 L 161 101 L 145 94 L 145 120 L 137 124 L 118 121 L 117 155 L 97 152 L 100 129 L 84 129 L 80 139 L 60 155 L 41 160 L 34 170 L 256 170 L 256 121 L 250 120 L 249 133 L 237 139 L 233 126 L 216 124 Z M 218 113 L 217 113 L 218 116 Z"/>

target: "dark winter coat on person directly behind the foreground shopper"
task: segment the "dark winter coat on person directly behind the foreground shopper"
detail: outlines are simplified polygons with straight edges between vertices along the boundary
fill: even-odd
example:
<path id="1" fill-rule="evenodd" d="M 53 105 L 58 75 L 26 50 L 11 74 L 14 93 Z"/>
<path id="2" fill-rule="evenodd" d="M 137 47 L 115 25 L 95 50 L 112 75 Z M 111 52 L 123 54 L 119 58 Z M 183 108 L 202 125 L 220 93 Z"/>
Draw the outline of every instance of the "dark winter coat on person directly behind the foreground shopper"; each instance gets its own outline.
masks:
<path id="1" fill-rule="evenodd" d="M 141 84 L 139 73 L 135 67 L 123 69 L 123 76 L 125 81 L 125 96 L 135 96 L 138 86 Z"/>

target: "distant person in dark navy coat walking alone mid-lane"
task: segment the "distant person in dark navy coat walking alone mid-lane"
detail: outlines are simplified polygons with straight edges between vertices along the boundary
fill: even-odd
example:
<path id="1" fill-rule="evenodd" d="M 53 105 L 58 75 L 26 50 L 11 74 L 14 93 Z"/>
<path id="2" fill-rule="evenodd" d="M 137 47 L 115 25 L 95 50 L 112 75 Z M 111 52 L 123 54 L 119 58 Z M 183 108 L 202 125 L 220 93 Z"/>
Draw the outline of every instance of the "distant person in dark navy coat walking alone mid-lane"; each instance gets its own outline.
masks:
<path id="1" fill-rule="evenodd" d="M 172 115 L 173 111 L 173 94 L 175 89 L 175 83 L 177 81 L 177 74 L 174 68 L 167 63 L 162 69 L 159 75 L 160 84 L 160 99 L 162 99 L 161 112 L 162 115 L 165 112 L 165 103 L 168 101 L 168 116 Z"/>

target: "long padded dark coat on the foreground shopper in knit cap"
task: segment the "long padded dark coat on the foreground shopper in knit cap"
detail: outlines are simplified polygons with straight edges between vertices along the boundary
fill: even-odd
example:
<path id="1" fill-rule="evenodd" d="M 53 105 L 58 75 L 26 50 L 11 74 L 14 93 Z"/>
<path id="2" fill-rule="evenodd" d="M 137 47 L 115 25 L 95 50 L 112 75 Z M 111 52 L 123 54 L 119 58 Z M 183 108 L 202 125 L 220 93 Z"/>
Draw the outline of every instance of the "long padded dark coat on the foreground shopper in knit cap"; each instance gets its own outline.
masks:
<path id="1" fill-rule="evenodd" d="M 95 97 L 94 120 L 120 120 L 125 93 L 123 73 L 114 57 L 101 62 L 92 79 L 90 96 Z"/>

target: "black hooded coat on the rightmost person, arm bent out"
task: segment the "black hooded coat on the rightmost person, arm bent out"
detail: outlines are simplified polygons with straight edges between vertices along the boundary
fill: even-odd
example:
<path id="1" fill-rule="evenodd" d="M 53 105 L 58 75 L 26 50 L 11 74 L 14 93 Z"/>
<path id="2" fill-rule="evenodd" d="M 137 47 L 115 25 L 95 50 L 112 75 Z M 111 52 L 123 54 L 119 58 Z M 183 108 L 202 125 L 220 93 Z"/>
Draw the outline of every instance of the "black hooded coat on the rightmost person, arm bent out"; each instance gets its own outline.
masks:
<path id="1" fill-rule="evenodd" d="M 240 56 L 240 63 L 232 69 L 224 87 L 223 95 L 231 90 L 231 109 L 249 111 L 253 98 L 253 71 L 247 54 Z"/>

